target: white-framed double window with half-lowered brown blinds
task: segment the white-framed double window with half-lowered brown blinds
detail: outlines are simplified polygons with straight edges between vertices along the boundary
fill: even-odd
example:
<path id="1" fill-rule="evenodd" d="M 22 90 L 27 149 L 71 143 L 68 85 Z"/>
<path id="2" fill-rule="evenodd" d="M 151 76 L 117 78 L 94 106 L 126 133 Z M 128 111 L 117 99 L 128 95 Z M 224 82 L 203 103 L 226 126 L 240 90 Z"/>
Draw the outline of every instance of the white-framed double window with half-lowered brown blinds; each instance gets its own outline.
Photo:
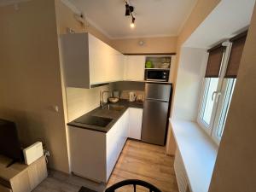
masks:
<path id="1" fill-rule="evenodd" d="M 209 49 L 198 123 L 219 143 L 229 113 L 247 32 Z"/>

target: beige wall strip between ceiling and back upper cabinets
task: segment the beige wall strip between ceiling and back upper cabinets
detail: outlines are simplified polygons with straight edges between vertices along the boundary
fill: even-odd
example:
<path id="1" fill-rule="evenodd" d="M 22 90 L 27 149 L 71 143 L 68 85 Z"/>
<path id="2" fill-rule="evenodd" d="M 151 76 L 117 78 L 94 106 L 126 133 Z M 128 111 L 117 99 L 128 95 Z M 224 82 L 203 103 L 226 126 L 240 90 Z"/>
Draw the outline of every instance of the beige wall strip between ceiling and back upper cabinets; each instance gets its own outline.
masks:
<path id="1" fill-rule="evenodd" d="M 113 39 L 112 44 L 122 53 L 176 53 L 177 37 Z"/>

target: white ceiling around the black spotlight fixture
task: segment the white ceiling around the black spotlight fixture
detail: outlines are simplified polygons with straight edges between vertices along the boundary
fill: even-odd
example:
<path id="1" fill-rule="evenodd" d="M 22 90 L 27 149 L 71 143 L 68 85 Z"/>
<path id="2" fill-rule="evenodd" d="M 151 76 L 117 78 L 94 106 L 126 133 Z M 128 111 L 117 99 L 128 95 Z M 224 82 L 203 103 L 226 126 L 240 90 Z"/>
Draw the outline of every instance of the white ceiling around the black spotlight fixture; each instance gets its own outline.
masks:
<path id="1" fill-rule="evenodd" d="M 65 0 L 66 1 L 66 0 Z M 125 0 L 69 0 L 108 38 L 177 36 L 196 0 L 130 0 L 136 27 L 125 17 Z"/>

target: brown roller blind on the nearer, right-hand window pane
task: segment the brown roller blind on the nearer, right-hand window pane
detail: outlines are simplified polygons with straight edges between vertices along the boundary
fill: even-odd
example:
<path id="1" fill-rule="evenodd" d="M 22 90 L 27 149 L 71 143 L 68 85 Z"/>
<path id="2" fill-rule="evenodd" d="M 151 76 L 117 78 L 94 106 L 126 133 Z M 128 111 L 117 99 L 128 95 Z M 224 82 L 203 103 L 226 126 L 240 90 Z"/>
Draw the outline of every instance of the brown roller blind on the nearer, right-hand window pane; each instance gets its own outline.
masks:
<path id="1" fill-rule="evenodd" d="M 230 59 L 228 62 L 224 78 L 236 78 L 246 38 L 247 32 L 243 32 L 235 38 L 230 39 L 230 42 L 232 42 L 232 47 L 230 51 Z"/>

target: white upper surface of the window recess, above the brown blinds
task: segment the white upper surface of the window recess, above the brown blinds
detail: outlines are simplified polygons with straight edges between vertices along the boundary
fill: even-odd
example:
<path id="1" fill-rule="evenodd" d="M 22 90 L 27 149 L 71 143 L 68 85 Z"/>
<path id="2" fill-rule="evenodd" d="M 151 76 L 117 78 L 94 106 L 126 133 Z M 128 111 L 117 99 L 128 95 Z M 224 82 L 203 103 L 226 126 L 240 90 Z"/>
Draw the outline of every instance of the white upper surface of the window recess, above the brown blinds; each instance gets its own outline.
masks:
<path id="1" fill-rule="evenodd" d="M 255 0 L 222 0 L 183 44 L 209 48 L 249 26 Z"/>

